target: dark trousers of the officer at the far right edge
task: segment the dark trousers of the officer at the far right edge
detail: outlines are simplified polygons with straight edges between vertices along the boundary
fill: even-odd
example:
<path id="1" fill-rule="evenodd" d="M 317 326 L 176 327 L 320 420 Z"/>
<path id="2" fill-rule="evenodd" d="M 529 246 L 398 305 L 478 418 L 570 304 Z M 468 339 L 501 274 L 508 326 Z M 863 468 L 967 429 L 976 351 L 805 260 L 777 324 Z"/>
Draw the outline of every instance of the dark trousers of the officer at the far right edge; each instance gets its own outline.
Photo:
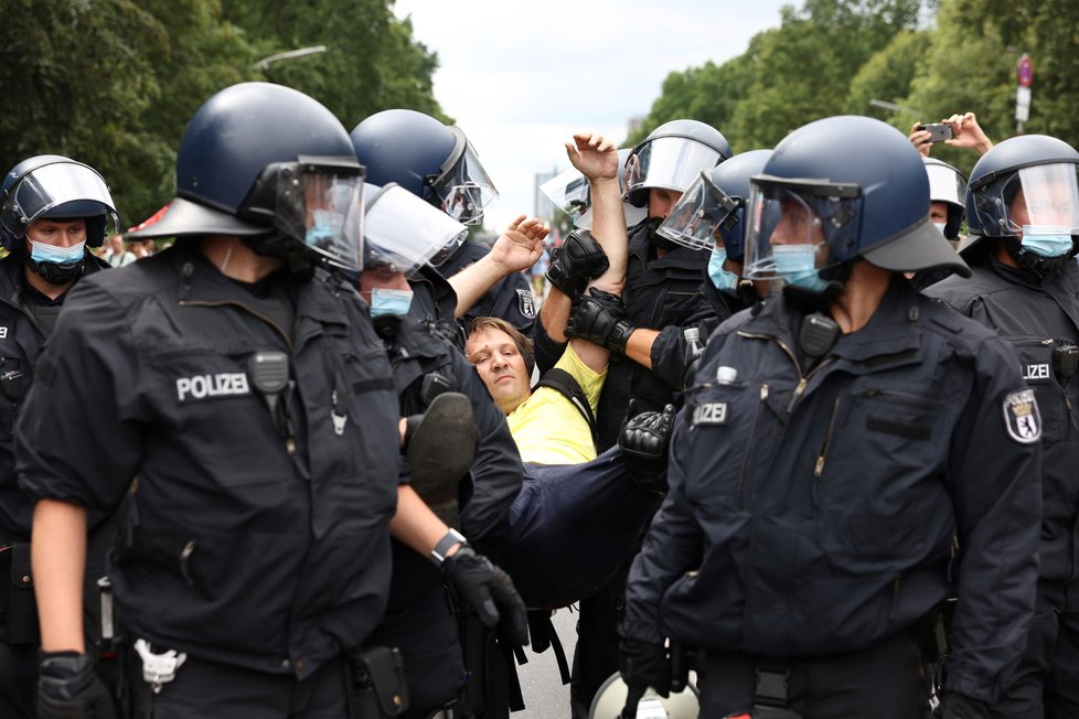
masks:
<path id="1" fill-rule="evenodd" d="M 993 716 L 1079 719 L 1079 579 L 1038 582 L 1023 657 Z"/>

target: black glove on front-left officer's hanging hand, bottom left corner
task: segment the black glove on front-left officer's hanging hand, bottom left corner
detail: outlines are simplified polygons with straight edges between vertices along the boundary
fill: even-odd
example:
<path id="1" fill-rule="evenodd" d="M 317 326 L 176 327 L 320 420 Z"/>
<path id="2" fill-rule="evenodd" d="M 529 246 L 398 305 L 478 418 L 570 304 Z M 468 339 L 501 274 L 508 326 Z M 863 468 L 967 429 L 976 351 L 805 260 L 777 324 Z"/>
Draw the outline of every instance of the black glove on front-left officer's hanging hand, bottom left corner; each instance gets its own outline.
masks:
<path id="1" fill-rule="evenodd" d="M 113 697 L 95 670 L 94 657 L 43 653 L 38 678 L 39 719 L 116 719 Z"/>

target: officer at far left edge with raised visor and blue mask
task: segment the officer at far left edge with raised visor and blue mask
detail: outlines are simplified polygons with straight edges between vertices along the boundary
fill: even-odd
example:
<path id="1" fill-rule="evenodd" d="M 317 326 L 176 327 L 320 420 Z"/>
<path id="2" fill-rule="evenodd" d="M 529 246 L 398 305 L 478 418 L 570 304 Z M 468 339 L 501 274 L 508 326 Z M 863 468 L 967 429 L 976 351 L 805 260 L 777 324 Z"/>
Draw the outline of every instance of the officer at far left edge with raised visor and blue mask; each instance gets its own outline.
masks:
<path id="1" fill-rule="evenodd" d="M 0 185 L 0 715 L 32 717 L 38 615 L 30 571 L 33 504 L 15 483 L 14 420 L 67 291 L 107 265 L 116 207 L 96 170 L 56 154 L 23 160 Z M 95 552 L 88 576 L 104 575 Z"/>

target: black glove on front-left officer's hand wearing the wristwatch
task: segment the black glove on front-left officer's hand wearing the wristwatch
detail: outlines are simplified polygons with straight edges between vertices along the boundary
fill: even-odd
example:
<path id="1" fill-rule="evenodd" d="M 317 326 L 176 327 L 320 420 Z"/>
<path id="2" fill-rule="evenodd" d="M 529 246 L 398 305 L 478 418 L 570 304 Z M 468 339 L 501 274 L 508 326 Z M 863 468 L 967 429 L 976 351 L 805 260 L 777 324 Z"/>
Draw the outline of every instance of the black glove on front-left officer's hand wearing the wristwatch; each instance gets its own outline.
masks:
<path id="1" fill-rule="evenodd" d="M 476 610 L 484 626 L 494 626 L 501 618 L 510 641 L 527 646 L 528 613 L 508 573 L 464 545 L 442 562 L 442 579 L 458 600 Z"/>

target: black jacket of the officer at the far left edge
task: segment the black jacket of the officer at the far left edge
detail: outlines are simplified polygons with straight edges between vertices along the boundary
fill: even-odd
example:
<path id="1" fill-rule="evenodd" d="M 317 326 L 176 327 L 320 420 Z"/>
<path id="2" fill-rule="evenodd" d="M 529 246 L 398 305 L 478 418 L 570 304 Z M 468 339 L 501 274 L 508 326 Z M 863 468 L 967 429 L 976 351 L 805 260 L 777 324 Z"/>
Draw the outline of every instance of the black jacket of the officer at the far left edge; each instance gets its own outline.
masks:
<path id="1" fill-rule="evenodd" d="M 86 272 L 108 269 L 105 260 L 87 257 Z M 34 363 L 46 331 L 28 307 L 22 256 L 0 260 L 0 544 L 30 539 L 33 503 L 15 482 L 14 428 L 20 405 L 34 377 Z M 57 298 L 57 304 L 66 298 Z"/>

